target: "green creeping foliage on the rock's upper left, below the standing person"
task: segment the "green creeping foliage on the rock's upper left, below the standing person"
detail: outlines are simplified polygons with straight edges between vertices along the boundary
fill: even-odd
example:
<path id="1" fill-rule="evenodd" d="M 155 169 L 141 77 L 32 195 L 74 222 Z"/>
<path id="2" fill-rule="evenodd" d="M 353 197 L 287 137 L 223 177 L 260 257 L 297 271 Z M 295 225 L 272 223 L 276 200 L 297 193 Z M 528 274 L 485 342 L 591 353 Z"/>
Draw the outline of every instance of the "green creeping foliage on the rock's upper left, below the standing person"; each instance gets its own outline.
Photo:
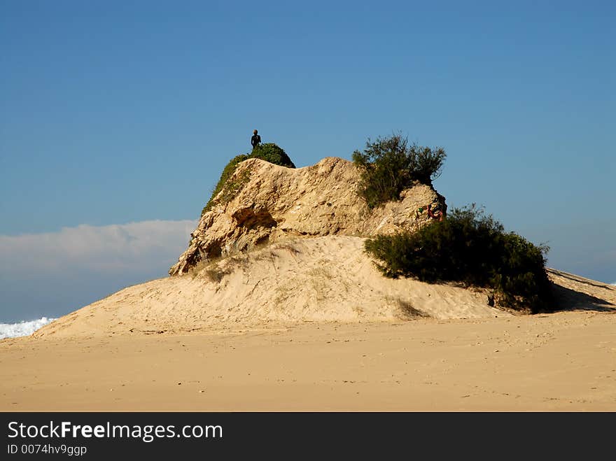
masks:
<path id="1" fill-rule="evenodd" d="M 230 178 L 233 176 L 233 173 L 235 173 L 235 169 L 237 169 L 237 165 L 240 162 L 244 162 L 244 160 L 252 158 L 262 159 L 266 162 L 286 166 L 288 168 L 295 168 L 295 165 L 291 162 L 291 159 L 288 155 L 286 155 L 285 151 L 282 150 L 282 148 L 279 148 L 279 146 L 276 146 L 274 143 L 267 143 L 257 146 L 253 149 L 251 154 L 237 155 L 236 157 L 233 157 L 227 166 L 225 166 L 225 169 L 223 169 L 221 178 L 218 180 L 216 187 L 214 187 L 214 192 L 212 192 L 207 205 L 201 212 L 201 215 L 204 215 L 204 213 L 210 211 L 216 203 L 228 203 L 237 195 L 241 188 L 248 183 L 248 180 L 250 179 L 249 171 L 244 172 L 241 177 L 235 178 L 233 181 L 230 181 Z M 220 197 L 218 197 L 218 199 L 216 199 L 216 196 L 220 192 L 223 193 Z"/>

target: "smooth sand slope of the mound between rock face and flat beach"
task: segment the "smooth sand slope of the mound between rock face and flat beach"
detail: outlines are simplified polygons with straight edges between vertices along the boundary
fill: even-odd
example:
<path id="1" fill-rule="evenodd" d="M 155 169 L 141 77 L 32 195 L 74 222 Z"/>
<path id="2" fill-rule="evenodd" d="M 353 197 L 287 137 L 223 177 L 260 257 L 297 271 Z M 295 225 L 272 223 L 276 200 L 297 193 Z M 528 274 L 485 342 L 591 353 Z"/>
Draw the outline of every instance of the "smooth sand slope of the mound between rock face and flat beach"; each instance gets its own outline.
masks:
<path id="1" fill-rule="evenodd" d="M 363 252 L 363 241 L 327 236 L 273 243 L 211 263 L 193 276 L 125 288 L 52 322 L 36 336 L 500 313 L 487 306 L 482 291 L 381 276 Z"/>

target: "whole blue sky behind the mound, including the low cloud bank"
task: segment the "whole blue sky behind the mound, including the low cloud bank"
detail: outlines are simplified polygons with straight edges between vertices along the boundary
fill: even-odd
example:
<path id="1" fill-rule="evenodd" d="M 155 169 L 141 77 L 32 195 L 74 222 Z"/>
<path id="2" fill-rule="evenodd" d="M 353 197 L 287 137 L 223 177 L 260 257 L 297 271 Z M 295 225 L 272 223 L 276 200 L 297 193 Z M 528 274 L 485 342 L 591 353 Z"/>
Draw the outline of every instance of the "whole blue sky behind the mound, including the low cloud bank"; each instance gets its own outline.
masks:
<path id="1" fill-rule="evenodd" d="M 0 0 L 0 322 L 164 276 L 253 129 L 297 166 L 442 146 L 450 207 L 616 282 L 614 24 L 613 1 Z"/>

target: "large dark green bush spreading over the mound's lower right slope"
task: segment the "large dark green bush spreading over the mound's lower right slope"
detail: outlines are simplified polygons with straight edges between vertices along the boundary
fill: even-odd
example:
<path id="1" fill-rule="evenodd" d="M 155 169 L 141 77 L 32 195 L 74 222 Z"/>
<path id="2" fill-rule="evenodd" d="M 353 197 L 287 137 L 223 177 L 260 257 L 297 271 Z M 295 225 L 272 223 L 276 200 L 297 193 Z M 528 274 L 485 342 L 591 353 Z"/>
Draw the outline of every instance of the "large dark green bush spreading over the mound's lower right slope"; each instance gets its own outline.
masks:
<path id="1" fill-rule="evenodd" d="M 537 312 L 549 308 L 546 246 L 535 246 L 485 215 L 475 204 L 414 233 L 380 235 L 365 242 L 385 276 L 457 281 L 492 288 L 503 306 Z"/>

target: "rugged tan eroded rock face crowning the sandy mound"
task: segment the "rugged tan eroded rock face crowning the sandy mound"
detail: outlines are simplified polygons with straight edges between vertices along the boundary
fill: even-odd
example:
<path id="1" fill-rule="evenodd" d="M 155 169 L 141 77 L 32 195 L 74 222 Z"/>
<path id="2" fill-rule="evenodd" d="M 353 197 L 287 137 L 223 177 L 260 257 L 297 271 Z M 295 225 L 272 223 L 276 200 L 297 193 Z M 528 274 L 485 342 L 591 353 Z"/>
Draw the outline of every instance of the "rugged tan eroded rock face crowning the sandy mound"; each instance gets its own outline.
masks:
<path id="1" fill-rule="evenodd" d="M 288 236 L 373 236 L 417 229 L 432 220 L 428 204 L 440 202 L 446 209 L 442 195 L 416 184 L 400 194 L 400 201 L 370 210 L 356 192 L 359 175 L 356 166 L 337 157 L 300 169 L 260 159 L 241 162 L 230 178 L 239 189 L 235 197 L 219 200 L 202 216 L 169 274 L 186 274 L 202 260 Z"/>

